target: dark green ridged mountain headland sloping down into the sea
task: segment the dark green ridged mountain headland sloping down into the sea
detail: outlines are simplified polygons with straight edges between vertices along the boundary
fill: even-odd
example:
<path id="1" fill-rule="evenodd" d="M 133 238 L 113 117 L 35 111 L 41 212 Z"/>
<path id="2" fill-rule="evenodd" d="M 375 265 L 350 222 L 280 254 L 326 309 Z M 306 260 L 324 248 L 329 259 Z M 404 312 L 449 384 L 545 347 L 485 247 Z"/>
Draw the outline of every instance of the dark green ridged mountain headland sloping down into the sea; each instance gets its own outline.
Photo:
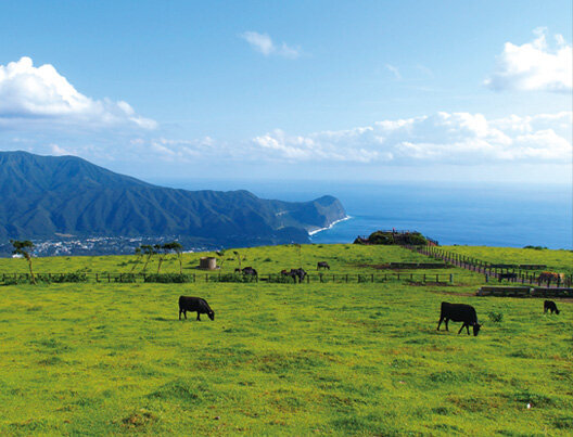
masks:
<path id="1" fill-rule="evenodd" d="M 345 217 L 332 196 L 263 200 L 247 191 L 153 185 L 75 156 L 0 152 L 0 239 L 162 236 L 230 245 L 308 242 Z"/>

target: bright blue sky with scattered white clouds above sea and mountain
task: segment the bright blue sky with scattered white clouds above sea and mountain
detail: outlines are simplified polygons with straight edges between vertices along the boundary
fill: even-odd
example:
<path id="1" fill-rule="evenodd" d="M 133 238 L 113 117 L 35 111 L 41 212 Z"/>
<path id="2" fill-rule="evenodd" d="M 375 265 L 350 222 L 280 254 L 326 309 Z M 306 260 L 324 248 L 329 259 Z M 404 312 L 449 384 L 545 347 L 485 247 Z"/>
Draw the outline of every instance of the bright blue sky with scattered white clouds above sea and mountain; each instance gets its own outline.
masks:
<path id="1" fill-rule="evenodd" d="M 566 183 L 572 14 L 570 1 L 2 2 L 0 150 L 144 179 Z"/>

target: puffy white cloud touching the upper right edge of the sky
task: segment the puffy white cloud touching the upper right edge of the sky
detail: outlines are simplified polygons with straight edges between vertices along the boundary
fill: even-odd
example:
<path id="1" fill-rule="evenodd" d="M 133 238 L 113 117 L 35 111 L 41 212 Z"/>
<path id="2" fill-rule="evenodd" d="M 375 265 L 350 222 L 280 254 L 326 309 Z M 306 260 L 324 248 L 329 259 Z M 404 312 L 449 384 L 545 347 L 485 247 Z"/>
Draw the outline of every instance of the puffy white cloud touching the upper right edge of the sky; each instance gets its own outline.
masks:
<path id="1" fill-rule="evenodd" d="M 573 48 L 561 35 L 556 48 L 547 42 L 547 30 L 534 30 L 532 42 L 515 46 L 506 42 L 497 66 L 485 85 L 493 90 L 571 92 L 573 89 Z"/>

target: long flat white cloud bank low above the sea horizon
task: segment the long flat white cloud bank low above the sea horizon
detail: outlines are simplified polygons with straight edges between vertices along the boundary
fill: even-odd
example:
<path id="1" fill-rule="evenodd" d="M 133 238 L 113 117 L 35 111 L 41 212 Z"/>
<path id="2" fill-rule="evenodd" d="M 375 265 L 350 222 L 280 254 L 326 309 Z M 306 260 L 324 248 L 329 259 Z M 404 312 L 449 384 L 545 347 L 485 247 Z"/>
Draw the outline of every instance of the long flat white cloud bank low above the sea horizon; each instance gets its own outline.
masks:
<path id="1" fill-rule="evenodd" d="M 572 116 L 512 115 L 487 120 L 482 114 L 442 112 L 308 136 L 275 130 L 254 138 L 251 147 L 259 159 L 289 162 L 571 164 Z"/>

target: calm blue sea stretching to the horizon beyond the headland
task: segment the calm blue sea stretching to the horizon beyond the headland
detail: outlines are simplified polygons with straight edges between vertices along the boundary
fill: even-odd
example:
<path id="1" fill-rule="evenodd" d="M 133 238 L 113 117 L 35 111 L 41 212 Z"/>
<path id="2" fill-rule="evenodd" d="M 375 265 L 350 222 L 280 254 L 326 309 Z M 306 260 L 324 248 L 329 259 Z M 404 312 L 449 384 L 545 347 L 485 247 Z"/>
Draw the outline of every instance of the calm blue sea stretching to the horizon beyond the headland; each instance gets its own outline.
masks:
<path id="1" fill-rule="evenodd" d="M 570 185 L 340 183 L 316 181 L 153 181 L 188 190 L 245 189 L 259 197 L 338 197 L 351 218 L 311 236 L 348 243 L 385 229 L 416 230 L 440 244 L 573 248 Z"/>

